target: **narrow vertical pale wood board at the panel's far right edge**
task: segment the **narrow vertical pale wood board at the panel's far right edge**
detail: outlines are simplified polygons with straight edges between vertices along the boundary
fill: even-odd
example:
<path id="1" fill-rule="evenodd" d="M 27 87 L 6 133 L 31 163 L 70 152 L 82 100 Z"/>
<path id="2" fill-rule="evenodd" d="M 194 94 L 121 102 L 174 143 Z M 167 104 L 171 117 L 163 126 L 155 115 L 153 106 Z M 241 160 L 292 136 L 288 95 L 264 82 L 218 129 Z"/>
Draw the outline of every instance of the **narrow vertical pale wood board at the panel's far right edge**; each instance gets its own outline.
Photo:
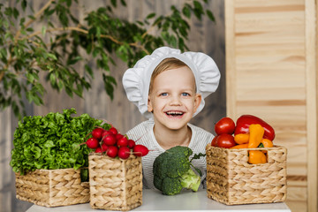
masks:
<path id="1" fill-rule="evenodd" d="M 318 211 L 317 1 L 305 1 L 308 211 Z"/>

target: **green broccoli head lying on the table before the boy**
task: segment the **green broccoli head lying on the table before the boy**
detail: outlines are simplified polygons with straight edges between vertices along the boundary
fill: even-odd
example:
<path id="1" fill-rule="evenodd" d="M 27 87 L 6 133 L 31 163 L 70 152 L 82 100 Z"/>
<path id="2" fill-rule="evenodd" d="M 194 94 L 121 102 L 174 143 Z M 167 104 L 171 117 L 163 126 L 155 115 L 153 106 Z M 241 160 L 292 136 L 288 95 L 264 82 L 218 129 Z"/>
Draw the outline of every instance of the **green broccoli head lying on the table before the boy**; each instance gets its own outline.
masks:
<path id="1" fill-rule="evenodd" d="M 154 162 L 154 185 L 165 195 L 174 195 L 183 188 L 198 191 L 201 177 L 191 169 L 191 148 L 177 146 L 158 155 Z"/>

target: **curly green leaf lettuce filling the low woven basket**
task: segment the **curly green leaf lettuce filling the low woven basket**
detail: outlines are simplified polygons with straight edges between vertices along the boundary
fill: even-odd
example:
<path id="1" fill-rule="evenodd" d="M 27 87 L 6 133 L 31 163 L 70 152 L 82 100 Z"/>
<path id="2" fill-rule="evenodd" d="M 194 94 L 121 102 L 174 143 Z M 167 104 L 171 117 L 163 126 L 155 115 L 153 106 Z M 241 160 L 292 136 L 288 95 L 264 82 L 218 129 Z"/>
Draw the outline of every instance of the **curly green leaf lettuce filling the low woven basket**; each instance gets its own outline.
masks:
<path id="1" fill-rule="evenodd" d="M 109 129 L 102 120 L 79 117 L 75 109 L 63 110 L 63 114 L 50 112 L 46 116 L 24 117 L 14 132 L 10 165 L 21 175 L 29 170 L 56 170 L 88 166 L 87 155 L 92 151 L 79 146 L 87 133 L 96 125 Z"/>

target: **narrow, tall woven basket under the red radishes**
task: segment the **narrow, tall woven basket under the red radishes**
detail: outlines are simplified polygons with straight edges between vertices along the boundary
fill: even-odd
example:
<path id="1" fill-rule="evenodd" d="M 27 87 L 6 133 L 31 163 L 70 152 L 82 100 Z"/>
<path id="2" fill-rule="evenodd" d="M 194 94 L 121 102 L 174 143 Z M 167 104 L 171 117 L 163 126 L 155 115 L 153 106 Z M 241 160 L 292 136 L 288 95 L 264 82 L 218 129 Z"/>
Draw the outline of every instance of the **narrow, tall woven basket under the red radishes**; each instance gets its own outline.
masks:
<path id="1" fill-rule="evenodd" d="M 141 157 L 122 160 L 88 155 L 90 205 L 107 210 L 131 210 L 142 204 Z"/>

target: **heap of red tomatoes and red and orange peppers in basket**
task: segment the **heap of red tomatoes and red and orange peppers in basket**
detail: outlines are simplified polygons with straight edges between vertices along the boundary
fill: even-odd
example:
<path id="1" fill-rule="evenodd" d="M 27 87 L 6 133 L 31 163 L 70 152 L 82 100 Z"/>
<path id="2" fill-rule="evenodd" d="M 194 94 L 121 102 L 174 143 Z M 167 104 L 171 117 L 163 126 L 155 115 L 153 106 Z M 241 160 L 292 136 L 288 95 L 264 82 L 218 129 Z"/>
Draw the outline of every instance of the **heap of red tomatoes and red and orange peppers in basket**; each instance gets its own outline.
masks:
<path id="1" fill-rule="evenodd" d="M 242 115 L 236 125 L 231 117 L 223 117 L 215 131 L 211 145 L 218 148 L 272 148 L 275 139 L 273 127 L 253 115 Z M 267 151 L 249 150 L 248 163 L 267 163 Z"/>

